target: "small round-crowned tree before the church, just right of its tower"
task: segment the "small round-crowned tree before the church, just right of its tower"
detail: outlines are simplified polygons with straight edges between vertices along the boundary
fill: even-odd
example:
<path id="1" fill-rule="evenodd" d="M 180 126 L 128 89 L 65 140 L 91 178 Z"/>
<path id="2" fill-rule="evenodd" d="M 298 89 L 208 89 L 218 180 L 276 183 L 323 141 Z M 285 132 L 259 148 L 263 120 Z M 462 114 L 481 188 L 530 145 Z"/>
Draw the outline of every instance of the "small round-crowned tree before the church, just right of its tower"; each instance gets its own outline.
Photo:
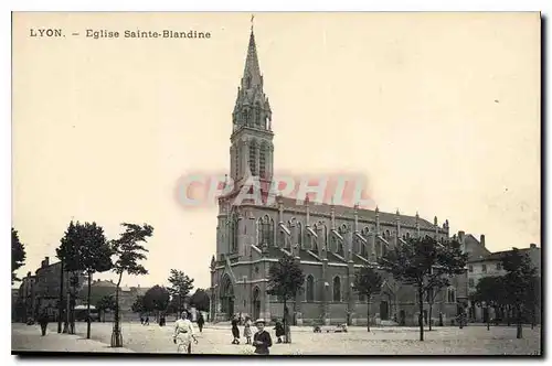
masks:
<path id="1" fill-rule="evenodd" d="M 284 330 L 286 330 L 286 342 L 290 343 L 288 331 L 288 310 L 287 301 L 295 299 L 302 291 L 305 283 L 305 273 L 299 262 L 294 257 L 285 255 L 274 263 L 268 270 L 268 290 L 267 293 L 276 295 L 284 301 Z"/>

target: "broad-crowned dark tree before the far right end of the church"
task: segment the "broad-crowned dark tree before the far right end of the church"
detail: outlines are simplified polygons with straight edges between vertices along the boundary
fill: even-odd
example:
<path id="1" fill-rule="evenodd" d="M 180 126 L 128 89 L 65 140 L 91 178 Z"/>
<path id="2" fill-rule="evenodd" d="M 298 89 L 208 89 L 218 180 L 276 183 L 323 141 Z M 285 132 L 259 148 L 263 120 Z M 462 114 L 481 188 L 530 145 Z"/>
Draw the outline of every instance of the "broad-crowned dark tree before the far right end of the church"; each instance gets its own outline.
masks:
<path id="1" fill-rule="evenodd" d="M 396 280 L 416 289 L 420 341 L 424 341 L 424 294 L 438 284 L 447 283 L 448 277 L 464 273 L 467 254 L 461 252 L 456 239 L 440 244 L 425 236 L 406 239 L 404 244 L 388 250 L 379 262 Z"/>

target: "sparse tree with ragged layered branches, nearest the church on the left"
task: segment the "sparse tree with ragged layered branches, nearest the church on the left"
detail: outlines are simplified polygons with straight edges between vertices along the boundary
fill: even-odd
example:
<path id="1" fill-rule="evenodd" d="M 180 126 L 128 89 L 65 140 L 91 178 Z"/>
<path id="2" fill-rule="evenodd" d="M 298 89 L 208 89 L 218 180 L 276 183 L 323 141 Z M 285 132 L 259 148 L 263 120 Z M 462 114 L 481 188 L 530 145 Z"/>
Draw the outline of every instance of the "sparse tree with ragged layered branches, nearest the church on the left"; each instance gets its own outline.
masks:
<path id="1" fill-rule="evenodd" d="M 123 335 L 120 334 L 119 324 L 119 288 L 123 280 L 123 273 L 128 274 L 148 274 L 148 270 L 139 263 L 140 260 L 147 259 L 146 249 L 141 243 L 146 243 L 147 238 L 153 235 L 153 227 L 144 224 L 123 223 L 125 232 L 116 240 L 113 240 L 113 249 L 116 256 L 116 261 L 113 271 L 119 276 L 115 290 L 115 324 L 112 334 L 112 347 L 123 347 Z"/>

